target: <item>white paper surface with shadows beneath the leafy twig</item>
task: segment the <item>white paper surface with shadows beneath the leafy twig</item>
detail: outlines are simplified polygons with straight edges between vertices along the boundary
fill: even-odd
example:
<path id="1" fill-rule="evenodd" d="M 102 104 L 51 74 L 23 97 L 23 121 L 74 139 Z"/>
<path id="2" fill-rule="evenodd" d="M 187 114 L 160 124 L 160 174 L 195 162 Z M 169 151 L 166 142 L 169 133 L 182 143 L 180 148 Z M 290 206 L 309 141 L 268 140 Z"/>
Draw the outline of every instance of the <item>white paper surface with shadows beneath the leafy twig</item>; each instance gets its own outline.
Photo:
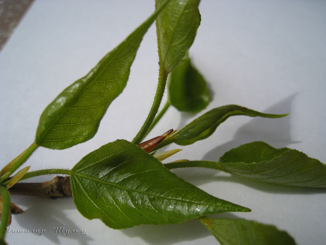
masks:
<path id="1" fill-rule="evenodd" d="M 57 94 L 87 74 L 153 11 L 154 0 L 33 3 L 0 53 L 1 165 L 34 141 L 39 116 Z M 169 160 L 217 160 L 233 147 L 263 140 L 326 163 L 326 2 L 202 0 L 200 13 L 202 21 L 190 57 L 213 94 L 203 112 L 238 104 L 290 115 L 282 119 L 231 117 L 210 138 L 181 147 L 184 150 Z M 155 31 L 153 25 L 144 36 L 127 86 L 109 107 L 96 136 L 66 150 L 39 148 L 24 166 L 71 169 L 107 142 L 133 139 L 156 89 Z M 181 129 L 197 116 L 171 107 L 147 138 L 170 128 Z M 173 148 L 180 146 L 168 149 Z M 271 186 L 205 169 L 174 172 L 216 197 L 252 209 L 214 217 L 274 224 L 288 231 L 297 244 L 325 244 L 325 189 Z M 45 229 L 46 233 L 9 233 L 9 244 L 218 244 L 195 220 L 113 230 L 100 220 L 82 217 L 69 197 L 13 196 L 12 201 L 26 210 L 24 215 L 13 216 L 12 229 Z M 85 229 L 87 235 L 55 234 L 54 227 Z"/>

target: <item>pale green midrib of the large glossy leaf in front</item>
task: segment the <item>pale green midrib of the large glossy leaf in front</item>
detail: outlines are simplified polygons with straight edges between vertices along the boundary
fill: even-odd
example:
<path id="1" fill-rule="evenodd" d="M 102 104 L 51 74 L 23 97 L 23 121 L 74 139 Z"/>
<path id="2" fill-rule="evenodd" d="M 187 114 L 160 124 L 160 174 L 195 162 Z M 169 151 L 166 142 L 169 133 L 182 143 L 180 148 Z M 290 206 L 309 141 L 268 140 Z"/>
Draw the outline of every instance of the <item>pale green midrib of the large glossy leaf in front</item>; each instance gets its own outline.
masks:
<path id="1" fill-rule="evenodd" d="M 209 205 L 209 206 L 219 206 L 219 207 L 221 206 L 221 205 L 207 204 L 205 202 L 200 203 L 200 202 L 194 202 L 194 201 L 190 201 L 190 200 L 182 200 L 182 199 L 178 199 L 178 198 L 164 197 L 163 195 L 158 195 L 158 194 L 151 193 L 151 192 L 146 192 L 146 191 L 143 191 L 143 190 L 137 190 L 137 189 L 134 189 L 134 188 L 123 187 L 123 186 L 117 185 L 115 183 L 112 183 L 110 181 L 101 180 L 99 178 L 95 178 L 95 177 L 92 177 L 92 176 L 89 176 L 89 175 L 86 175 L 86 174 L 77 173 L 77 172 L 72 171 L 70 176 L 75 177 L 74 175 L 78 176 L 78 177 L 81 177 L 81 178 L 89 179 L 89 180 L 92 180 L 94 182 L 98 182 L 98 183 L 101 183 L 101 184 L 104 184 L 104 185 L 109 185 L 109 186 L 112 186 L 112 187 L 115 187 L 115 188 L 120 188 L 120 189 L 123 189 L 123 190 L 126 190 L 126 191 L 134 191 L 134 192 L 138 192 L 138 193 L 143 193 L 145 195 L 155 196 L 155 197 L 163 198 L 163 199 L 166 199 L 166 200 L 173 200 L 173 201 L 179 201 L 179 202 L 184 202 L 184 203 L 193 203 L 193 204 L 206 204 L 206 205 Z M 77 178 L 75 177 L 75 179 L 77 179 Z"/>

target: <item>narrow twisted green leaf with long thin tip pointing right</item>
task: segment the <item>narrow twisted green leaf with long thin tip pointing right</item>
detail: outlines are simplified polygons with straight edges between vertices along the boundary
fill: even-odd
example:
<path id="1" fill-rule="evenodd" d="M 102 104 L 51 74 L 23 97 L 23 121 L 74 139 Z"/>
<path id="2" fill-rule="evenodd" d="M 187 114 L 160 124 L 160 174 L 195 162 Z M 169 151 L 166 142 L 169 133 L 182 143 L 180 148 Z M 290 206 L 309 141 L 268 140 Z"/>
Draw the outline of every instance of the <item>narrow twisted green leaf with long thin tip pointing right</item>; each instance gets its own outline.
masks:
<path id="1" fill-rule="evenodd" d="M 265 117 L 265 118 L 280 118 L 285 117 L 288 114 L 274 115 L 265 114 L 258 111 L 248 109 L 243 106 L 237 105 L 227 105 L 214 108 L 205 114 L 201 115 L 199 118 L 195 119 L 191 123 L 187 124 L 179 132 L 167 137 L 161 144 L 159 148 L 168 145 L 170 143 L 177 143 L 178 145 L 190 145 L 197 140 L 206 139 L 211 136 L 218 125 L 227 120 L 230 116 L 250 116 L 250 117 Z"/>

